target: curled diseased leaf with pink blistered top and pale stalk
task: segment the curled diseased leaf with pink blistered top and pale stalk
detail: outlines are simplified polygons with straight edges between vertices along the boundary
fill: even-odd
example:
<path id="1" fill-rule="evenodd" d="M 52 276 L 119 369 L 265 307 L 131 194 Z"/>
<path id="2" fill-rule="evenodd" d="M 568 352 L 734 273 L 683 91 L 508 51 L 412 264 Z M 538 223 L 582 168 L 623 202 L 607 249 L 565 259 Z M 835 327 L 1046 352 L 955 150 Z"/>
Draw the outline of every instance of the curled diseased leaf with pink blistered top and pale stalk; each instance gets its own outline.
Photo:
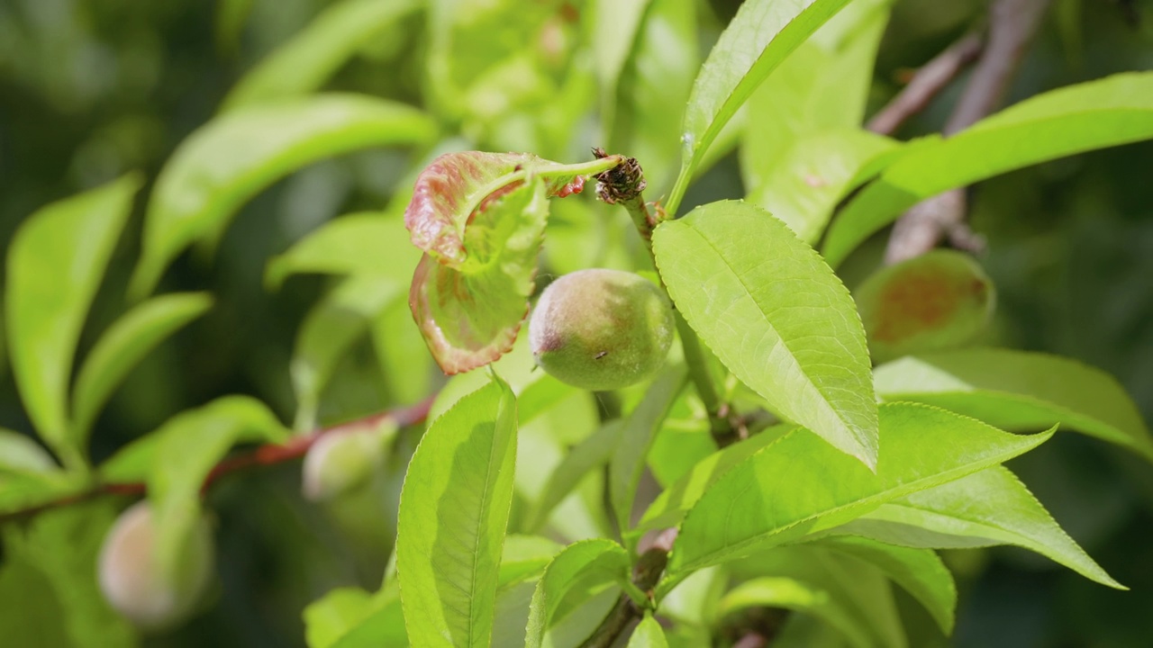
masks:
<path id="1" fill-rule="evenodd" d="M 529 153 L 447 153 L 416 179 L 405 226 L 424 250 L 409 306 L 446 374 L 500 357 L 528 314 L 548 197 L 570 196 L 619 156 L 562 165 Z"/>

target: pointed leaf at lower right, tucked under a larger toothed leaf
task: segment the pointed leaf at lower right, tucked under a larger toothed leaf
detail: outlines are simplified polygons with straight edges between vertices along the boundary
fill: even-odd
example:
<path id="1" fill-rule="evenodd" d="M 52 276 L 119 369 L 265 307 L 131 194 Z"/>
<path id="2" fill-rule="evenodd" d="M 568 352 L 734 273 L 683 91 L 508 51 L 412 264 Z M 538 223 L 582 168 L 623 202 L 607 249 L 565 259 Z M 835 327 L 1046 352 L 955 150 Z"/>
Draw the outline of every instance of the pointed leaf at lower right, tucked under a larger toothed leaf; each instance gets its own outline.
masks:
<path id="1" fill-rule="evenodd" d="M 1128 589 L 1094 563 L 1004 467 L 895 499 L 831 533 L 929 549 L 1012 544 L 1092 581 Z"/>

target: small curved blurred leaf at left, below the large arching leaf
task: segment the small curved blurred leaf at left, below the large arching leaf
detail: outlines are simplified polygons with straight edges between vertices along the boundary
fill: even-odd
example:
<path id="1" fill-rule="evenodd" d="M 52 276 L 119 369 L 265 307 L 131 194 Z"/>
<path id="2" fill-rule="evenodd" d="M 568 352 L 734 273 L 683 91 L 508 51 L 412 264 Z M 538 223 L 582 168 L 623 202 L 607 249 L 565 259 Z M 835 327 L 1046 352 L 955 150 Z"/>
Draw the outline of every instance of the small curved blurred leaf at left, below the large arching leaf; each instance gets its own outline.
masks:
<path id="1" fill-rule="evenodd" d="M 212 307 L 208 293 L 149 300 L 108 327 L 84 359 L 73 390 L 73 436 L 86 443 L 100 408 L 133 367 L 165 338 Z"/>

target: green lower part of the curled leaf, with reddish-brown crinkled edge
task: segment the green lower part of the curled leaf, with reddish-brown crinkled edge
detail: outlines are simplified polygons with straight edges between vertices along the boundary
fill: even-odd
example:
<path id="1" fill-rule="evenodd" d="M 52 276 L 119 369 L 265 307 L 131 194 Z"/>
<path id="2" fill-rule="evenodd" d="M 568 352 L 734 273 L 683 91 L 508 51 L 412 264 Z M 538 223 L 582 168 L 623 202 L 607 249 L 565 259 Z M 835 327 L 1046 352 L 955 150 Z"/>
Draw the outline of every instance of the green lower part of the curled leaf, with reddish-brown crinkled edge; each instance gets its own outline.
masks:
<path id="1" fill-rule="evenodd" d="M 445 374 L 483 367 L 512 348 L 528 314 L 547 216 L 545 186 L 530 178 L 483 201 L 465 235 L 468 263 L 421 258 L 408 304 Z"/>

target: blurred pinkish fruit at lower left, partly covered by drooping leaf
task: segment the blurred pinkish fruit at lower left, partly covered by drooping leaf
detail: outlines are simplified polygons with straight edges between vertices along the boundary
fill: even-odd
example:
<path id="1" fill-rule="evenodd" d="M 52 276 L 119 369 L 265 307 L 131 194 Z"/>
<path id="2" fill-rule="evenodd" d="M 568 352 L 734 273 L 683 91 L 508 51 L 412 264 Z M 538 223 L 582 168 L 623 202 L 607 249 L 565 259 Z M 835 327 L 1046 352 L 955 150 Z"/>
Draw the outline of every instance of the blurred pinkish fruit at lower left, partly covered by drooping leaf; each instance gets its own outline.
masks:
<path id="1" fill-rule="evenodd" d="M 108 603 L 141 630 L 163 630 L 189 617 L 212 575 L 212 537 L 201 518 L 186 538 L 180 573 L 165 579 L 153 563 L 152 510 L 141 502 L 116 519 L 100 548 L 100 590 Z"/>

